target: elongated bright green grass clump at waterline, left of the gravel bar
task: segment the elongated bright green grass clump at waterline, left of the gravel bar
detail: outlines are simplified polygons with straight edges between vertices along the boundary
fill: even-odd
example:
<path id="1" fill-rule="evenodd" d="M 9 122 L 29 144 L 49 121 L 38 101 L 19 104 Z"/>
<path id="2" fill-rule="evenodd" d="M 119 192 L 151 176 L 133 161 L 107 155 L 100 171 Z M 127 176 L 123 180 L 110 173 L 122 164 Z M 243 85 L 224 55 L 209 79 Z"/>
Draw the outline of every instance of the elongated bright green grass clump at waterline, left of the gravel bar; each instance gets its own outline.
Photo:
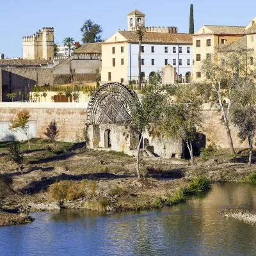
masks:
<path id="1" fill-rule="evenodd" d="M 176 193 L 174 193 L 167 200 L 168 205 L 179 204 L 180 202 L 185 202 L 188 196 L 196 195 L 203 191 L 207 191 L 211 188 L 211 181 L 205 177 L 199 177 L 189 183 L 187 187 L 180 188 Z"/>

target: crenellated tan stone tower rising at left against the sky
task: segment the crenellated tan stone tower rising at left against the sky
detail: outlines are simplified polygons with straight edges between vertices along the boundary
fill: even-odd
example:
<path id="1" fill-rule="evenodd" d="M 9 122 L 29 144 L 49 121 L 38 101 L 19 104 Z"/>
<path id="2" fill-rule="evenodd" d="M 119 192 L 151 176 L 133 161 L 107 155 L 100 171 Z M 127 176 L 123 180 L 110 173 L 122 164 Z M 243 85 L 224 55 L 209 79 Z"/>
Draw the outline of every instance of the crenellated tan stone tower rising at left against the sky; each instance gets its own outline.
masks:
<path id="1" fill-rule="evenodd" d="M 23 60 L 53 60 L 54 29 L 42 28 L 22 38 Z"/>

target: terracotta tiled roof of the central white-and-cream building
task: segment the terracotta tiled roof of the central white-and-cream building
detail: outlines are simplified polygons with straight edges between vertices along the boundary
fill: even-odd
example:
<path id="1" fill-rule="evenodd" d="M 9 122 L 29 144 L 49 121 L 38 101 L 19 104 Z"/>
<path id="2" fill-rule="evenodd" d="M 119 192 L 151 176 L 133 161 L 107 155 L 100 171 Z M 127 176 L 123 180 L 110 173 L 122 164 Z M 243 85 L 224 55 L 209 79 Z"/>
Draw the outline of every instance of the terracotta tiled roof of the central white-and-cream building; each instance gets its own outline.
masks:
<path id="1" fill-rule="evenodd" d="M 139 38 L 136 32 L 130 31 L 118 31 L 120 35 L 124 36 L 128 42 L 138 43 Z M 177 33 L 154 33 L 146 32 L 143 35 L 143 43 L 180 43 L 180 44 L 192 44 L 192 36 L 189 34 L 177 34 Z"/>

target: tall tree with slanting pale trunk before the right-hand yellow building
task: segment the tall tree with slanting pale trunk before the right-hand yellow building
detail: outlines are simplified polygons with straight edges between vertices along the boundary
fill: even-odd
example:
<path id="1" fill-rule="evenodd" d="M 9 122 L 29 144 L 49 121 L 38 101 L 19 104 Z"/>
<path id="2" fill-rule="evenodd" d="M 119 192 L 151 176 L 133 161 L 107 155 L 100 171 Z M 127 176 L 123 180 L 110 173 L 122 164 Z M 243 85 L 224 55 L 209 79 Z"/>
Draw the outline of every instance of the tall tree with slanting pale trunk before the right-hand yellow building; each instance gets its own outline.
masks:
<path id="1" fill-rule="evenodd" d="M 202 84 L 205 88 L 204 96 L 221 111 L 230 154 L 235 154 L 230 132 L 230 107 L 234 101 L 233 91 L 246 77 L 255 77 L 252 58 L 253 51 L 251 49 L 235 42 L 232 45 L 216 47 L 216 54 L 208 54 L 201 65 L 201 71 L 206 77 Z"/>

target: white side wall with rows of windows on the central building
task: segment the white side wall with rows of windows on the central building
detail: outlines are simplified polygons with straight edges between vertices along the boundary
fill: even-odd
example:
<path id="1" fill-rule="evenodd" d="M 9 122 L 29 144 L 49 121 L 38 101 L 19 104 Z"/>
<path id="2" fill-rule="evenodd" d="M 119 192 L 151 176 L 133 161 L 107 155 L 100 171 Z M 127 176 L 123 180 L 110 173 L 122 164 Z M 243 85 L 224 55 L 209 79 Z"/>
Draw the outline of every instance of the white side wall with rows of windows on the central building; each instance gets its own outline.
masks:
<path id="1" fill-rule="evenodd" d="M 182 74 L 185 78 L 186 72 L 193 74 L 193 46 L 192 45 L 171 45 L 171 44 L 142 44 L 145 51 L 141 52 L 141 59 L 145 60 L 145 65 L 141 65 L 141 72 L 145 72 L 146 79 L 149 79 L 150 72 L 161 71 L 165 67 L 164 60 L 168 59 L 168 63 L 177 68 L 177 73 Z M 151 47 L 155 47 L 155 52 L 151 52 Z M 128 67 L 128 77 L 130 80 L 138 80 L 138 44 L 131 44 L 131 53 L 129 52 L 129 64 L 131 56 L 131 68 Z M 168 53 L 164 52 L 164 47 L 168 47 Z M 176 53 L 173 53 L 173 47 L 176 47 Z M 179 47 L 182 47 L 182 53 L 179 53 Z M 190 47 L 190 53 L 187 53 L 187 47 Z M 130 47 L 129 47 L 130 49 Z M 151 60 L 155 60 L 155 65 L 152 65 Z M 173 59 L 176 59 L 176 65 L 173 65 Z M 179 65 L 179 59 L 182 60 L 182 65 Z M 190 65 L 187 65 L 187 60 L 190 60 Z"/>

